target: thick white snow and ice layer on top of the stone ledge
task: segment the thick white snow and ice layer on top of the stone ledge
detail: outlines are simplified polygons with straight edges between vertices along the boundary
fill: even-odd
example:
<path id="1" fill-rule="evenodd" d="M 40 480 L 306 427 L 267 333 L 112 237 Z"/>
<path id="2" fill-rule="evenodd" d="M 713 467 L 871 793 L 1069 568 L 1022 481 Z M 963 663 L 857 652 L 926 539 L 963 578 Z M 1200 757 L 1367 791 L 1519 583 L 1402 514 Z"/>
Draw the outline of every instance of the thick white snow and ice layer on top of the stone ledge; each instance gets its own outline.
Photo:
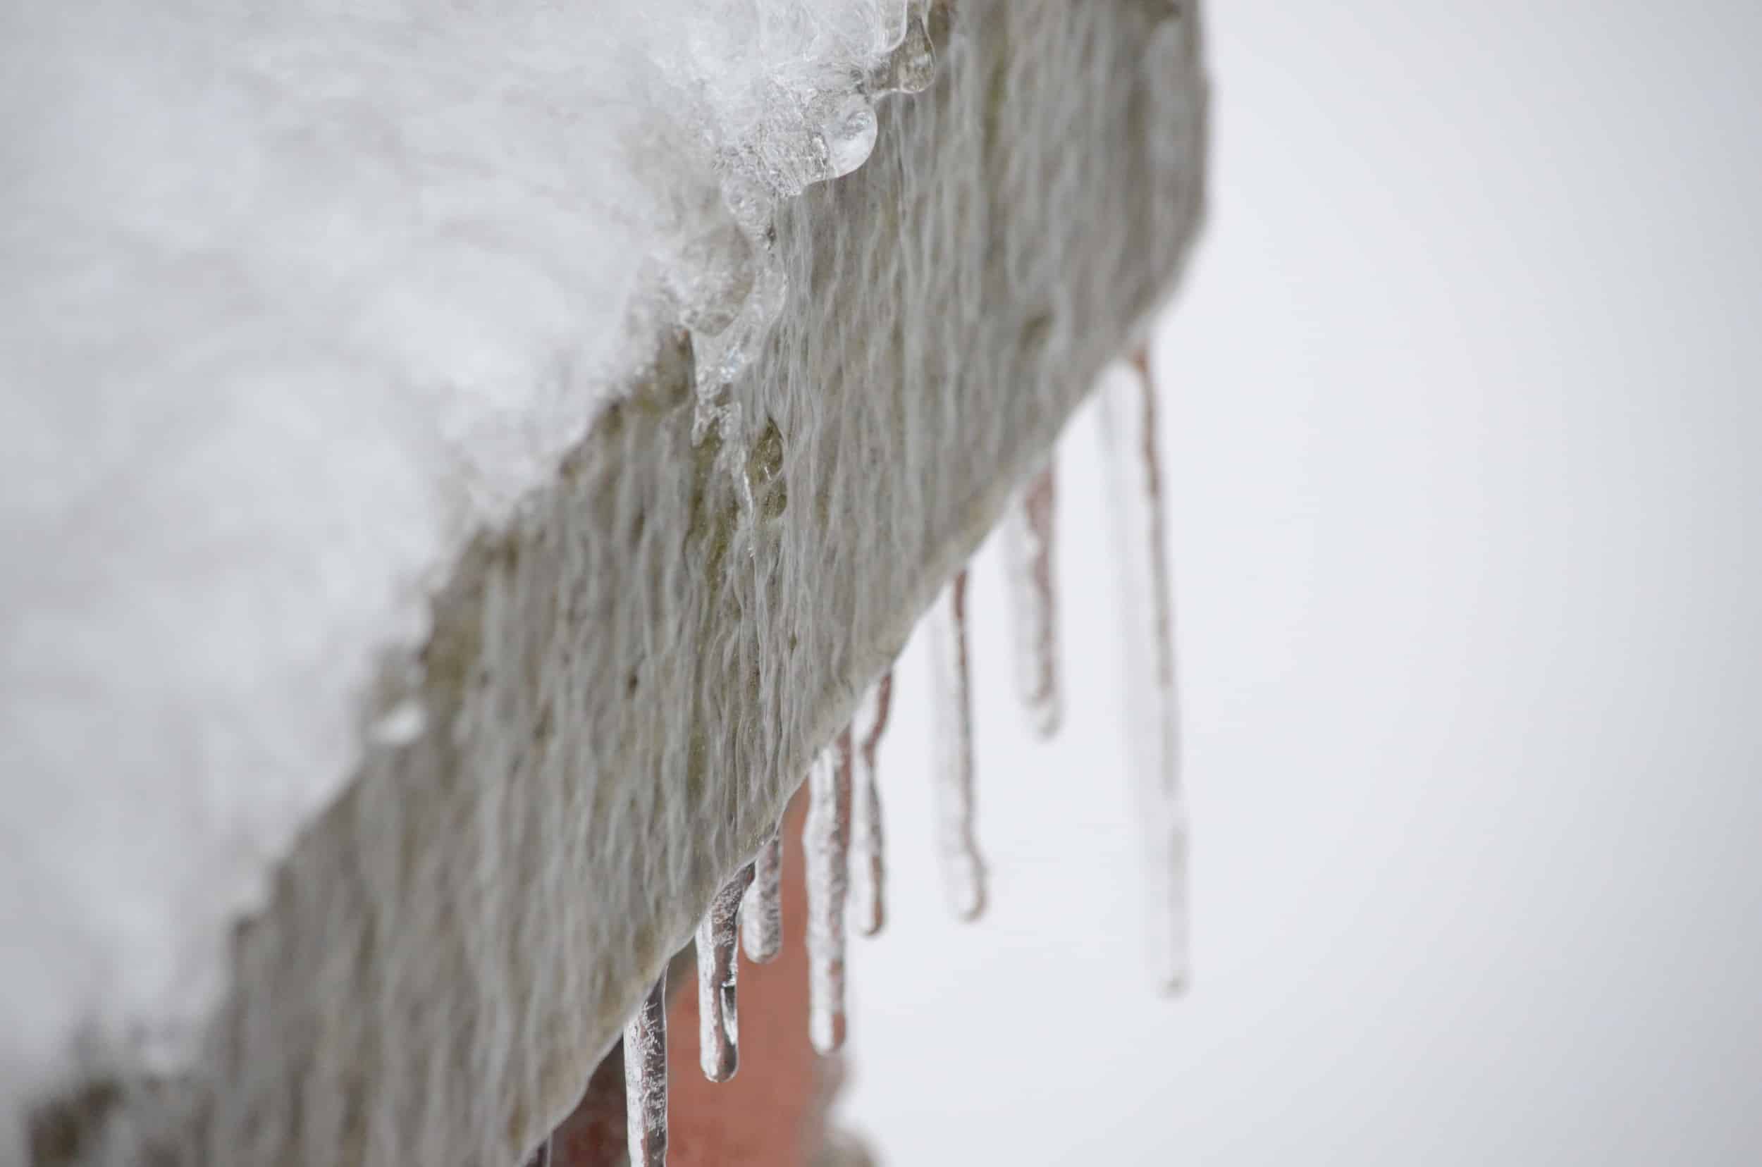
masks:
<path id="1" fill-rule="evenodd" d="M 0 14 L 0 1089 L 174 1067 L 366 749 L 437 571 L 684 323 L 731 375 L 777 199 L 929 79 L 911 0 Z M 885 83 L 867 79 L 881 78 Z M 393 670 L 396 672 L 396 670 Z M 414 684 L 409 686 L 414 689 Z M 372 695 L 372 700 L 368 700 Z"/>

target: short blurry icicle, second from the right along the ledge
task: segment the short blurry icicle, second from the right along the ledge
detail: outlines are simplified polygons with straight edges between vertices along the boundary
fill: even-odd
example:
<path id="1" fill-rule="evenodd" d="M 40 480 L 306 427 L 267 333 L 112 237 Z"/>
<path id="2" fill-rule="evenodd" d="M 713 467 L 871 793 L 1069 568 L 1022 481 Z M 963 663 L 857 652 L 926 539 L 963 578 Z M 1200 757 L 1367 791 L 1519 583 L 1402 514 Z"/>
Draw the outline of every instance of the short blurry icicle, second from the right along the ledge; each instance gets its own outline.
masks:
<path id="1" fill-rule="evenodd" d="M 1010 508 L 1004 554 L 1015 617 L 1015 682 L 1034 732 L 1052 737 L 1062 712 L 1059 700 L 1059 608 L 1052 576 L 1052 536 L 1057 511 L 1054 464 L 1034 474 Z"/>

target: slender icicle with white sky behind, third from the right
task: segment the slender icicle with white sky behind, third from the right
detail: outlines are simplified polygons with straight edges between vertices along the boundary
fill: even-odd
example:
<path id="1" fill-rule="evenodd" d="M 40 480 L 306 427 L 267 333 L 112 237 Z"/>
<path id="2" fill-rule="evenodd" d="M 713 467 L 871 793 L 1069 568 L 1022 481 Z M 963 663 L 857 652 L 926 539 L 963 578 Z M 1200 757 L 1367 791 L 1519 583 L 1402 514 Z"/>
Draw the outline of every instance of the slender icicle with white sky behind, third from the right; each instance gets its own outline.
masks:
<path id="1" fill-rule="evenodd" d="M 967 689 L 967 573 L 962 568 L 930 613 L 936 654 L 936 793 L 943 885 L 955 915 L 985 910 L 985 862 L 973 839 L 973 695 Z"/>

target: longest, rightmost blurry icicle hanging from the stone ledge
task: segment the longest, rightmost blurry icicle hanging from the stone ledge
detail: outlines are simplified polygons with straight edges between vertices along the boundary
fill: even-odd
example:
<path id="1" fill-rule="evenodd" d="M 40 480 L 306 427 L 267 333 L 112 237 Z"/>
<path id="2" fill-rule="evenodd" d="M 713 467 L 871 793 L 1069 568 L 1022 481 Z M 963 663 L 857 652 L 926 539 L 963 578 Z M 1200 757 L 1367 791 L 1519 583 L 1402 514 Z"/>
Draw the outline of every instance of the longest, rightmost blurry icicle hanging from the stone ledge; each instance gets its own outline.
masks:
<path id="1" fill-rule="evenodd" d="M 1149 857 L 1152 968 L 1170 992 L 1188 982 L 1188 813 L 1181 792 L 1181 709 L 1175 689 L 1173 603 L 1163 536 L 1156 450 L 1156 384 L 1149 356 L 1135 377 L 1110 377 L 1107 432 L 1126 592 L 1126 680 L 1133 769 Z"/>

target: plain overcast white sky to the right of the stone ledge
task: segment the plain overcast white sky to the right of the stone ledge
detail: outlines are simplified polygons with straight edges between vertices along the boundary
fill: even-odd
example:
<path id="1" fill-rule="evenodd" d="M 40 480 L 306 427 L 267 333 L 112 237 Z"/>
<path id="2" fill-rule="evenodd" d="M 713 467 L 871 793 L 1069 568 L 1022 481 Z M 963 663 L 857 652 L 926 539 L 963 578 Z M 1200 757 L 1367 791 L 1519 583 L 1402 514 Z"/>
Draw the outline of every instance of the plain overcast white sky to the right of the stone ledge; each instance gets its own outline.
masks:
<path id="1" fill-rule="evenodd" d="M 1050 746 L 974 580 L 978 925 L 902 665 L 846 1114 L 900 1167 L 1762 1162 L 1762 18 L 1207 9 L 1156 349 L 1196 985 L 1144 975 L 1085 413 Z"/>

